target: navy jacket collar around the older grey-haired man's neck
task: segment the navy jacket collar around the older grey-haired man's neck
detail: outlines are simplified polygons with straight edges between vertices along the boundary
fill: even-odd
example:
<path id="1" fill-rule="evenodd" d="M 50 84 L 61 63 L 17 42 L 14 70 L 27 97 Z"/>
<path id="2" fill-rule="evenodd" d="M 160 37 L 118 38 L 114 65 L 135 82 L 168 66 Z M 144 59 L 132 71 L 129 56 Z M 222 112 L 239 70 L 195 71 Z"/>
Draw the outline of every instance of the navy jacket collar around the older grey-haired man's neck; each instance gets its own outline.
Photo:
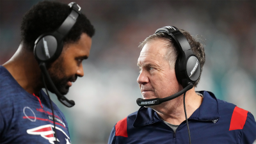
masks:
<path id="1" fill-rule="evenodd" d="M 200 91 L 204 95 L 203 102 L 201 106 L 194 111 L 194 113 L 188 118 L 200 121 L 216 122 L 220 118 L 218 100 L 212 92 Z M 162 122 L 161 118 L 157 115 L 156 111 L 151 108 L 141 107 L 136 114 L 134 120 L 134 127 L 141 127 L 144 125 L 154 124 L 156 122 Z"/>

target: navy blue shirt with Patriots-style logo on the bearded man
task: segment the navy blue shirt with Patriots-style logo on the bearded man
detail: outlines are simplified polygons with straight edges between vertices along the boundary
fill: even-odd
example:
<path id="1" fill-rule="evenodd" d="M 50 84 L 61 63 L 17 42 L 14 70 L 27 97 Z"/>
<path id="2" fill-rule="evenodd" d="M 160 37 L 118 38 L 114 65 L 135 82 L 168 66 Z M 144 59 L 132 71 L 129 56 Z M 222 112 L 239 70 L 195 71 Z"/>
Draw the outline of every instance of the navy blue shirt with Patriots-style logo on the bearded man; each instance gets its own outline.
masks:
<path id="1" fill-rule="evenodd" d="M 65 116 L 53 102 L 52 107 L 58 141 L 70 143 Z M 54 143 L 52 120 L 50 99 L 44 91 L 31 95 L 0 66 L 0 143 Z"/>

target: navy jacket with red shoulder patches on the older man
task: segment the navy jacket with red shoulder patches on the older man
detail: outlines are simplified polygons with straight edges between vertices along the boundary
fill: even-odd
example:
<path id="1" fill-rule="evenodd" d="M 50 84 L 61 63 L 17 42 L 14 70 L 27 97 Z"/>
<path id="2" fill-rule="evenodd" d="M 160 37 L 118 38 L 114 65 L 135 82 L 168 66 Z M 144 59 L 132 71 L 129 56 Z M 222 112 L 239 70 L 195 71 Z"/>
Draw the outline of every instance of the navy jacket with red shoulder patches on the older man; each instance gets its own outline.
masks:
<path id="1" fill-rule="evenodd" d="M 252 113 L 223 100 L 213 93 L 204 95 L 200 108 L 188 118 L 191 143 L 250 143 L 256 139 L 256 122 Z M 189 143 L 186 121 L 173 132 L 151 108 L 141 107 L 117 122 L 109 136 L 113 143 Z"/>

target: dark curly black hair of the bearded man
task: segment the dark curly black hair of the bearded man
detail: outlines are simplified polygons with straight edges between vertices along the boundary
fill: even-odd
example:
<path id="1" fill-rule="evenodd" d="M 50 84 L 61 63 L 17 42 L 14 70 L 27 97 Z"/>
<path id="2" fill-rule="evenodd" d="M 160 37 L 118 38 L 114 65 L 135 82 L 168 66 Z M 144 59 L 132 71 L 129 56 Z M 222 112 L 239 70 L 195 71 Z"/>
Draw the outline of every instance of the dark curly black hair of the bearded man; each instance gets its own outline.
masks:
<path id="1" fill-rule="evenodd" d="M 20 26 L 21 40 L 29 51 L 33 51 L 35 40 L 43 33 L 54 31 L 60 27 L 70 13 L 68 4 L 57 1 L 42 1 L 33 6 L 23 17 Z M 92 38 L 95 33 L 90 20 L 83 13 L 77 18 L 76 24 L 65 36 L 64 44 L 77 42 L 82 33 Z"/>

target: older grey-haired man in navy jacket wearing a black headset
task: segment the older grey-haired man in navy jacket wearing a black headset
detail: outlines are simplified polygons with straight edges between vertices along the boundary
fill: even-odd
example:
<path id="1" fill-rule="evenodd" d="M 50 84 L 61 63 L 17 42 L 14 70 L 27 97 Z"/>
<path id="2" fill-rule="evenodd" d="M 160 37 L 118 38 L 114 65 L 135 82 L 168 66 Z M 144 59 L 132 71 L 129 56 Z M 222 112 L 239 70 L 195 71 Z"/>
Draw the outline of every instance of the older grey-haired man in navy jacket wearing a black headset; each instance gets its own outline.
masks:
<path id="1" fill-rule="evenodd" d="M 116 123 L 109 144 L 253 143 L 250 112 L 211 92 L 195 92 L 205 52 L 187 31 L 166 26 L 139 47 L 141 108 Z"/>

